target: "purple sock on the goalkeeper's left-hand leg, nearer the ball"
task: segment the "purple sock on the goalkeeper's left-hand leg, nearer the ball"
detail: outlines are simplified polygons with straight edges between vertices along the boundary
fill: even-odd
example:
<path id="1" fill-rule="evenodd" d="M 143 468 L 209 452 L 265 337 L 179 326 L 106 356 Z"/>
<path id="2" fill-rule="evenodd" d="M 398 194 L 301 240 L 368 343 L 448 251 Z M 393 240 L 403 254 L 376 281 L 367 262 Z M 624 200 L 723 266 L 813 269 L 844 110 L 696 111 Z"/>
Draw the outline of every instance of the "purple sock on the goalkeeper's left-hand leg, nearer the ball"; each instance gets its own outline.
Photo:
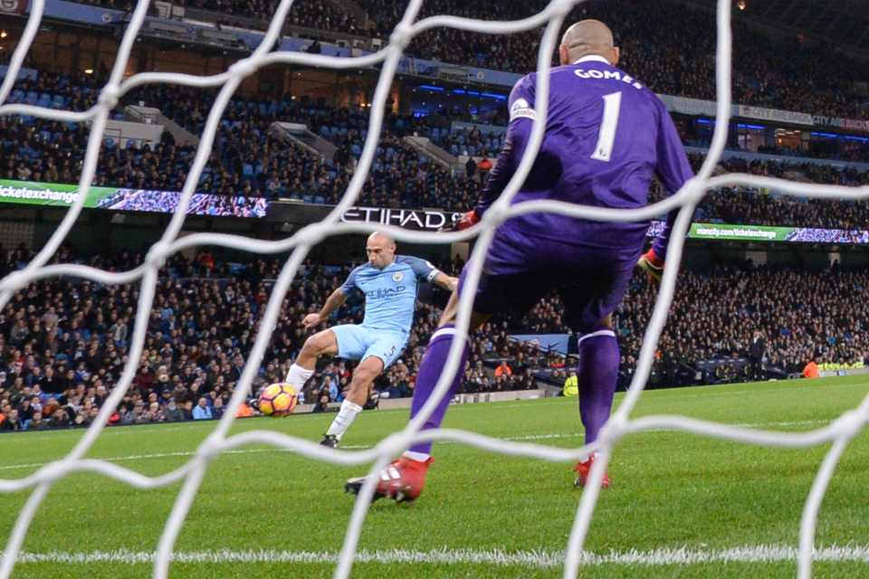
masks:
<path id="1" fill-rule="evenodd" d="M 437 379 L 441 377 L 441 371 L 444 369 L 444 365 L 446 365 L 446 357 L 450 352 L 450 346 L 453 344 L 454 335 L 454 325 L 446 324 L 444 327 L 438 328 L 432 336 L 432 339 L 429 340 L 428 347 L 425 348 L 423 362 L 419 365 L 419 373 L 416 375 L 414 401 L 410 409 L 411 418 L 414 418 L 414 416 L 419 413 L 423 408 L 425 401 L 427 401 L 432 393 L 435 392 L 435 384 L 437 384 Z M 423 430 L 437 428 L 441 425 L 441 422 L 444 422 L 446 407 L 449 405 L 450 400 L 452 400 L 456 390 L 458 390 L 459 382 L 462 380 L 462 376 L 464 375 L 464 365 L 467 361 L 468 345 L 467 342 L 465 342 L 462 351 L 462 359 L 459 362 L 458 370 L 455 372 L 453 384 L 450 384 L 449 390 L 437 404 L 435 412 L 428 417 L 427 421 L 425 421 Z M 410 447 L 410 451 L 414 453 L 411 456 L 415 457 L 427 455 L 431 450 L 431 442 L 420 442 Z"/>

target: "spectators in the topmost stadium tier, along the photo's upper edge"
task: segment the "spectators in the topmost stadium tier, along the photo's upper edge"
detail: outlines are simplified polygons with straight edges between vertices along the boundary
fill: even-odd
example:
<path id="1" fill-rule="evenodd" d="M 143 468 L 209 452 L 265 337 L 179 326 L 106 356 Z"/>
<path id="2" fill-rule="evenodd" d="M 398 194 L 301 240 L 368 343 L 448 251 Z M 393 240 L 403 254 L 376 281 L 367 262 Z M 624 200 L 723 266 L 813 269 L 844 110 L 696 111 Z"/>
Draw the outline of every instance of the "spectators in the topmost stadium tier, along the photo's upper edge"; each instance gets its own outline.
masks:
<path id="1" fill-rule="evenodd" d="M 85 0 L 129 10 L 129 0 Z M 260 18 L 267 22 L 274 0 L 191 0 L 179 5 L 224 15 Z M 360 0 L 368 13 L 369 30 L 357 26 L 326 0 L 303 0 L 291 7 L 288 24 L 356 33 L 387 39 L 406 9 L 404 0 Z M 514 20 L 542 10 L 546 2 L 516 3 L 479 0 L 426 2 L 420 17 L 453 14 L 481 20 Z M 578 5 L 566 23 L 593 17 L 614 24 L 622 48 L 623 67 L 647 86 L 666 94 L 714 100 L 714 14 L 692 5 L 664 2 L 649 10 L 641 0 L 612 3 L 590 0 Z M 861 65 L 832 43 L 806 42 L 802 34 L 772 37 L 750 26 L 750 13 L 733 20 L 733 100 L 773 109 L 863 119 L 869 100 L 849 79 Z M 615 24 L 617 23 L 617 25 Z M 676 30 L 678 28 L 678 31 Z M 499 71 L 527 73 L 537 68 L 542 28 L 524 33 L 490 35 L 438 27 L 417 35 L 407 49 L 416 57 L 468 64 Z M 835 53 L 834 58 L 828 55 Z M 557 62 L 554 62 L 557 64 Z M 864 67 L 862 67 L 864 70 Z"/>

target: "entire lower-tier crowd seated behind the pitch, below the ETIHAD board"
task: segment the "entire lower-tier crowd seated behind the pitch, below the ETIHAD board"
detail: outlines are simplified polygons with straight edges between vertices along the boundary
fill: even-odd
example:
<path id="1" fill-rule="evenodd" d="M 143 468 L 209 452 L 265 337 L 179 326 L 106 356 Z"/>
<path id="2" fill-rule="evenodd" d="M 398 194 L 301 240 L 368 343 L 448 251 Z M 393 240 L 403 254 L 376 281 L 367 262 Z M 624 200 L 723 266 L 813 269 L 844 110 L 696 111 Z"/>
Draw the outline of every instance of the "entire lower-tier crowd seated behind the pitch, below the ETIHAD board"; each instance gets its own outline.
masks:
<path id="1" fill-rule="evenodd" d="M 0 274 L 24 265 L 23 248 L 0 252 Z M 93 257 L 88 264 L 110 271 L 135 267 L 142 256 L 123 252 Z M 76 261 L 63 247 L 55 261 Z M 176 255 L 161 271 L 147 323 L 145 349 L 133 384 L 110 424 L 219 418 L 253 346 L 279 261 L 246 264 L 215 261 L 209 252 Z M 462 261 L 442 264 L 455 273 Z M 279 382 L 308 332 L 306 313 L 319 308 L 351 265 L 306 263 L 283 300 L 277 327 L 253 384 Z M 767 375 L 799 371 L 809 360 L 869 363 L 869 306 L 855 299 L 869 287 L 864 272 L 775 271 L 750 265 L 680 274 L 673 314 L 656 354 L 651 379 L 657 384 L 696 384 L 717 379 L 762 377 L 708 373 L 704 361 L 749 356 L 751 333 L 767 340 Z M 655 293 L 637 275 L 616 314 L 623 352 L 621 379 L 630 379 Z M 0 312 L 0 430 L 86 426 L 117 384 L 127 362 L 138 286 L 105 287 L 91 281 L 45 280 L 19 290 Z M 439 316 L 437 299 L 421 301 L 405 354 L 380 376 L 371 406 L 379 399 L 413 394 L 423 349 Z M 361 299 L 351 299 L 336 318 L 361 322 Z M 538 379 L 559 384 L 565 358 L 510 338 L 513 333 L 566 331 L 559 299 L 542 299 L 524 316 L 493 318 L 473 337 L 464 370 L 463 393 L 537 387 Z M 727 370 L 731 366 L 724 366 Z M 737 367 L 736 365 L 732 366 Z M 743 367 L 743 366 L 740 366 Z M 321 361 L 300 395 L 301 403 L 339 402 L 351 364 Z M 686 372 L 687 369 L 687 372 Z M 256 413 L 245 404 L 243 415 Z"/>

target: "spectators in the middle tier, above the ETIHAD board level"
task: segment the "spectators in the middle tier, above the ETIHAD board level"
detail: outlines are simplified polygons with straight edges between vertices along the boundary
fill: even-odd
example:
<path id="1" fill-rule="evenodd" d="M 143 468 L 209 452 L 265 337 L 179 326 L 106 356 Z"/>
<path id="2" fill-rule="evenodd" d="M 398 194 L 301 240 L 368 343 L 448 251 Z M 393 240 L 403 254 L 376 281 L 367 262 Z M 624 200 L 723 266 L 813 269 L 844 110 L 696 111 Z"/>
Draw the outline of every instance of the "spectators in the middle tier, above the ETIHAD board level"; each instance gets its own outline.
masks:
<path id="1" fill-rule="evenodd" d="M 41 73 L 36 81 L 20 81 L 19 96 L 52 94 L 66 100 L 72 109 L 87 109 L 99 83 L 87 75 L 67 77 Z M 183 88 L 154 86 L 129 95 L 129 102 L 163 103 L 163 109 L 179 125 L 201 132 L 210 100 Z M 302 122 L 338 146 L 333 159 L 316 157 L 301 147 L 288 145 L 270 131 L 272 122 Z M 276 101 L 234 100 L 224 115 L 221 129 L 198 191 L 230 197 L 283 197 L 298 201 L 335 204 L 353 175 L 368 135 L 366 109 L 334 109 L 307 99 Z M 483 157 L 494 155 L 501 138 L 480 128 L 451 132 L 443 119 L 414 119 L 406 115 L 387 117 L 377 157 L 358 204 L 385 207 L 440 207 L 463 211 L 479 196 L 486 169 L 451 175 L 402 140 L 414 133 L 427 135 L 456 155 L 464 152 Z M 43 119 L 0 117 L 0 178 L 49 183 L 76 183 L 87 143 L 88 128 Z M 178 191 L 196 153 L 194 147 L 175 144 L 168 133 L 151 147 L 122 148 L 107 144 L 100 157 L 95 185 L 135 190 Z M 699 166 L 701 156 L 692 156 Z M 488 167 L 487 167 L 488 168 Z M 794 161 L 745 161 L 731 158 L 721 163 L 728 171 L 765 176 L 793 176 L 836 185 L 865 185 L 869 172 Z M 653 188 L 651 199 L 663 195 Z M 828 200 L 795 200 L 758 195 L 745 189 L 724 189 L 708 195 L 697 220 L 756 225 L 790 225 L 866 229 L 869 204 Z"/>

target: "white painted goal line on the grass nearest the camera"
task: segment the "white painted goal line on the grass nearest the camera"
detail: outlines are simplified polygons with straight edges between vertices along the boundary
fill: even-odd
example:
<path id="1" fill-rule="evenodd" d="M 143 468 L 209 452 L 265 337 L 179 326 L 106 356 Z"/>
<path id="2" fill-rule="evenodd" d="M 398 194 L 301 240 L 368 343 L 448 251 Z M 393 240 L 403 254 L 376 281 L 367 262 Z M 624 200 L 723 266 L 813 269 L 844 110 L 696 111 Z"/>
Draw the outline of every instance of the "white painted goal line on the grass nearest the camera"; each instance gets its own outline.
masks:
<path id="1" fill-rule="evenodd" d="M 153 551 L 115 551 L 22 553 L 19 564 L 53 563 L 58 565 L 88 565 L 94 563 L 118 563 L 142 565 L 153 563 Z M 279 551 L 273 549 L 231 551 L 228 549 L 186 551 L 172 555 L 176 563 L 322 563 L 335 564 L 338 553 L 318 551 Z M 2 558 L 2 556 L 0 556 Z M 869 563 L 869 546 L 826 546 L 816 548 L 815 561 L 831 563 Z M 797 560 L 796 546 L 754 545 L 738 546 L 720 550 L 692 549 L 688 547 L 659 548 L 650 551 L 612 551 L 601 555 L 585 553 L 581 565 L 699 565 L 706 563 L 777 563 Z M 531 567 L 559 567 L 564 565 L 563 551 L 502 551 L 492 549 L 435 549 L 411 551 L 404 549 L 360 550 L 358 563 L 393 565 L 421 563 L 437 565 L 526 565 Z"/>

